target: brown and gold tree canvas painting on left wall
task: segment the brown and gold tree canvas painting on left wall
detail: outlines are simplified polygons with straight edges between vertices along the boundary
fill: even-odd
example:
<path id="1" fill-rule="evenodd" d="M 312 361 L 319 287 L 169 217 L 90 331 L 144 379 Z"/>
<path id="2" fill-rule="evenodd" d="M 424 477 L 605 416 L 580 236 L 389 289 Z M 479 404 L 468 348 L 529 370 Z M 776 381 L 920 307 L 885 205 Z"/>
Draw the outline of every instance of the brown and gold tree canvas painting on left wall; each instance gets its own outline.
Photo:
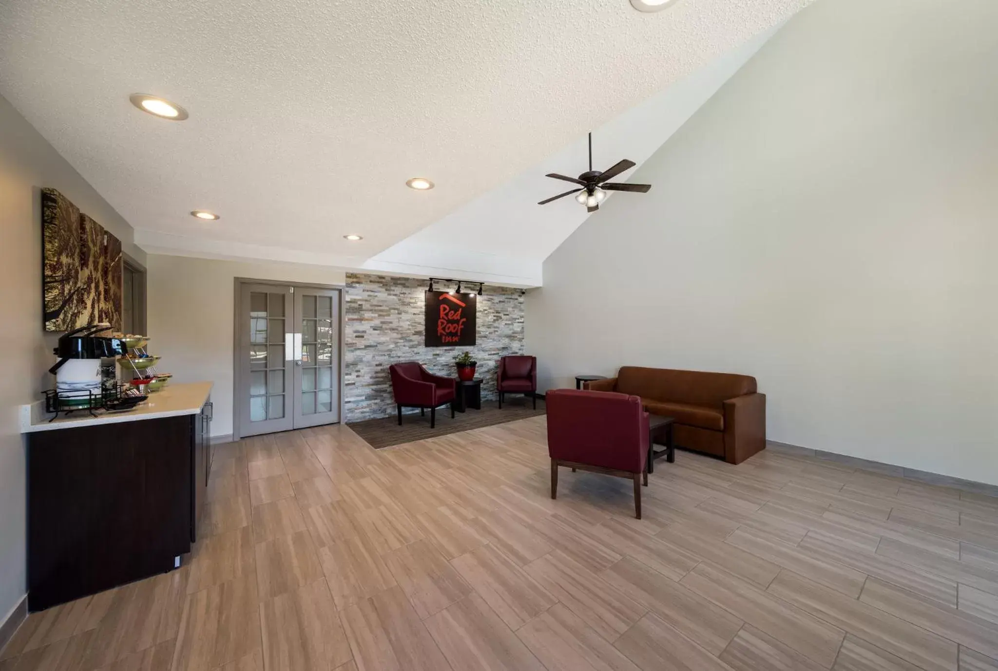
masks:
<path id="1" fill-rule="evenodd" d="M 45 330 L 122 324 L 122 243 L 54 188 L 42 189 Z"/>

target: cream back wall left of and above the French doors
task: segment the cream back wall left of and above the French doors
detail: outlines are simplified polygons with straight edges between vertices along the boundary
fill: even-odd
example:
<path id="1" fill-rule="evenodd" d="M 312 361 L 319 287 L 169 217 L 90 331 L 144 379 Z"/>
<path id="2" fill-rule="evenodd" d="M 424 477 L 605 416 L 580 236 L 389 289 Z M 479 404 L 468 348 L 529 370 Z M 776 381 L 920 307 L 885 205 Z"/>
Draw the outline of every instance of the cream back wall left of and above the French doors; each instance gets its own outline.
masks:
<path id="1" fill-rule="evenodd" d="M 236 278 L 344 284 L 336 268 L 291 263 L 245 263 L 150 254 L 148 312 L 151 354 L 173 382 L 215 383 L 213 436 L 233 433 L 233 344 Z"/>

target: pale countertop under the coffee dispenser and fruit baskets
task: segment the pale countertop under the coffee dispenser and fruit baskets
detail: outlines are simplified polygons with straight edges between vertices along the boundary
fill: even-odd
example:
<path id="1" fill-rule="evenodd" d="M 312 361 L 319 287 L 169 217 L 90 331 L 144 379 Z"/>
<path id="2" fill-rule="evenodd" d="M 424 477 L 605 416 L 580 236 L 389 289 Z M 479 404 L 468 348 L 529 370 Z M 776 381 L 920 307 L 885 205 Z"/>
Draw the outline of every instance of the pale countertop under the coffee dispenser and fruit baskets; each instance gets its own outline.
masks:
<path id="1" fill-rule="evenodd" d="M 53 422 L 49 422 L 52 415 L 45 413 L 45 402 L 37 401 L 21 406 L 21 433 L 195 415 L 201 412 L 202 406 L 208 401 L 208 396 L 211 393 L 211 382 L 169 384 L 162 391 L 150 394 L 149 400 L 140 403 L 135 410 L 126 413 L 106 413 L 103 410 L 98 410 L 96 411 L 97 417 L 92 417 L 86 411 L 79 410 L 69 416 L 60 414 L 59 419 Z"/>

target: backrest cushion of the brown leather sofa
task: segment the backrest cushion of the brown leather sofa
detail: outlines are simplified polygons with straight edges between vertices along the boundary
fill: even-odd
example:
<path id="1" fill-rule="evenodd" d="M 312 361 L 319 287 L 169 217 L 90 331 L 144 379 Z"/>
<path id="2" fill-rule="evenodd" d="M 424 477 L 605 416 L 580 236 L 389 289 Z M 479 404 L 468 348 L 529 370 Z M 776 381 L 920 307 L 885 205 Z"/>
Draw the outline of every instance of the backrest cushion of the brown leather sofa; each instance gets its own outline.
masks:
<path id="1" fill-rule="evenodd" d="M 617 374 L 616 391 L 646 401 L 709 406 L 721 411 L 725 401 L 753 394 L 756 389 L 755 378 L 749 375 L 625 366 Z"/>

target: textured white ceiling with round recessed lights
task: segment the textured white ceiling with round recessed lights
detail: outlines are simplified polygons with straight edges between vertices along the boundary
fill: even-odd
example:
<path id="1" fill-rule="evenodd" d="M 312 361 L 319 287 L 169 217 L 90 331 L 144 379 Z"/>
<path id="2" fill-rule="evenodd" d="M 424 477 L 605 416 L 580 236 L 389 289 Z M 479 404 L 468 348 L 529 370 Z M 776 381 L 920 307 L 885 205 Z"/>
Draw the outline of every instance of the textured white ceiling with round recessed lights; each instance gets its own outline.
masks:
<path id="1" fill-rule="evenodd" d="M 360 267 L 807 2 L 7 0 L 0 94 L 149 251 Z"/>

